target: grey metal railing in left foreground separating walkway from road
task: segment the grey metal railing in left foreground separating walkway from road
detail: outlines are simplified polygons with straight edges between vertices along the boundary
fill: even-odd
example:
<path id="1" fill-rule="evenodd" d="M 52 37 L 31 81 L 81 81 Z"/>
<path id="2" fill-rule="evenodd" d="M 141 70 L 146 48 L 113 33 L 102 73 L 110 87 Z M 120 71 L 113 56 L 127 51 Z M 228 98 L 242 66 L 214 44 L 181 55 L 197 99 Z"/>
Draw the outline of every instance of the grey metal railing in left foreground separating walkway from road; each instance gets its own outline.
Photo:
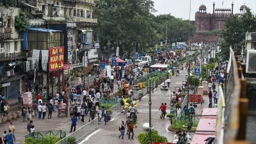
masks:
<path id="1" fill-rule="evenodd" d="M 99 129 L 103 124 L 104 124 L 104 122 L 99 122 L 98 117 L 96 117 L 94 120 L 83 125 L 83 127 L 80 127 L 72 134 L 69 134 L 62 140 L 58 141 L 56 144 L 68 144 L 67 140 L 69 137 L 74 137 L 74 138 L 76 138 L 77 142 L 79 142 L 79 141 L 83 140 L 83 138 L 86 138 L 86 136 L 91 134 L 93 131 Z"/>

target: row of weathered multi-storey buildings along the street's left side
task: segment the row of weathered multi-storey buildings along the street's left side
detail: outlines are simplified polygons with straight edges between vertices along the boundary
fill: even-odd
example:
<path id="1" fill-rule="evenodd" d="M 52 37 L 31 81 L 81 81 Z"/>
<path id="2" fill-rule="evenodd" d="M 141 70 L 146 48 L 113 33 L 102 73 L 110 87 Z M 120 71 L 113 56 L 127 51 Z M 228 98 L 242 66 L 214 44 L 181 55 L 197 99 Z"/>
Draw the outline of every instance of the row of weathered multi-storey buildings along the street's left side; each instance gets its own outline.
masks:
<path id="1" fill-rule="evenodd" d="M 19 92 L 33 91 L 35 85 L 42 84 L 46 88 L 47 70 L 42 68 L 42 51 L 51 47 L 65 49 L 65 67 L 58 79 L 50 77 L 51 83 L 56 84 L 71 75 L 74 78 L 77 71 L 83 71 L 83 56 L 93 49 L 95 41 L 92 36 L 97 26 L 97 19 L 93 19 L 94 6 L 93 0 L 25 0 L 15 7 L 1 6 L 0 94 L 11 100 L 17 98 Z M 18 33 L 14 27 L 15 16 L 21 12 L 29 19 L 30 28 Z M 60 36 L 52 36 L 52 33 L 60 33 Z M 33 58 L 34 50 L 39 52 L 38 60 Z M 86 72 L 90 72 L 95 61 L 88 60 Z"/>

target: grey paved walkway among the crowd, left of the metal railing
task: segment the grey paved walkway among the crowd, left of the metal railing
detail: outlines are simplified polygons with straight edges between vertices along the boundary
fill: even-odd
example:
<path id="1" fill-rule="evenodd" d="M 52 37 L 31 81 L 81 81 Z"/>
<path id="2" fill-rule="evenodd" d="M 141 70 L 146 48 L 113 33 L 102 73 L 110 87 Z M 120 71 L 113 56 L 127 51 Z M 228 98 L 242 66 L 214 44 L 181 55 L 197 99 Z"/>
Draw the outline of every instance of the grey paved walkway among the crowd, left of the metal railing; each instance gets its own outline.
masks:
<path id="1" fill-rule="evenodd" d="M 93 84 L 93 81 L 90 81 L 90 84 Z M 114 92 L 117 92 L 117 86 L 115 84 L 114 86 Z M 13 108 L 14 111 L 21 111 L 20 106 Z M 48 114 L 47 114 L 48 115 Z M 84 124 L 88 123 L 89 116 L 85 116 L 84 123 L 78 120 L 76 129 L 79 129 L 79 127 L 82 127 Z M 35 131 L 50 131 L 50 130 L 62 130 L 67 132 L 67 135 L 70 134 L 70 125 L 71 125 L 71 119 L 70 116 L 66 117 L 65 115 L 61 115 L 60 117 L 57 116 L 57 113 L 52 113 L 52 119 L 47 119 L 47 116 L 45 120 L 38 119 L 36 117 L 31 118 L 33 120 L 33 125 L 35 125 Z M 4 130 L 8 130 L 10 124 L 0 124 L 1 132 Z M 22 118 L 17 118 L 16 120 L 13 120 L 13 125 L 15 126 L 15 137 L 16 142 L 23 143 L 24 142 L 24 136 L 29 134 L 26 127 L 28 125 L 28 122 L 23 122 Z"/>

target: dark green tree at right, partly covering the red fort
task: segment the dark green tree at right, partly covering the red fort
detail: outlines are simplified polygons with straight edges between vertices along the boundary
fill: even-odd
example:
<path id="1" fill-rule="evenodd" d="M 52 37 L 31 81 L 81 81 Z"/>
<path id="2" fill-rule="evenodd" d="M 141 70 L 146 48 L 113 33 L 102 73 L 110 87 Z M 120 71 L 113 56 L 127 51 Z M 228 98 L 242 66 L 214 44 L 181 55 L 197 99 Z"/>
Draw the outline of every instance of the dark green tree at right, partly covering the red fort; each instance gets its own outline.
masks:
<path id="1" fill-rule="evenodd" d="M 230 46 L 234 51 L 241 52 L 246 31 L 256 31 L 256 17 L 250 8 L 241 17 L 230 17 L 225 22 L 225 29 L 221 32 L 221 56 L 228 60 Z"/>

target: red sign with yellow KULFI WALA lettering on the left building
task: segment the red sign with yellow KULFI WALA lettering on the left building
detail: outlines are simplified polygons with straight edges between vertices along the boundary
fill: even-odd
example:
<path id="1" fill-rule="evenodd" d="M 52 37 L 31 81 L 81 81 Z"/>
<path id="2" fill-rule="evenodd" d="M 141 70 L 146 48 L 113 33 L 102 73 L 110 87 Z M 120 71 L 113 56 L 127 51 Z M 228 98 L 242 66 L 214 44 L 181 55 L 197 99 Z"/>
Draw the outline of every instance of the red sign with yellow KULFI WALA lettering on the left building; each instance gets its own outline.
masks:
<path id="1" fill-rule="evenodd" d="M 49 71 L 64 68 L 64 47 L 52 47 L 49 49 Z"/>

